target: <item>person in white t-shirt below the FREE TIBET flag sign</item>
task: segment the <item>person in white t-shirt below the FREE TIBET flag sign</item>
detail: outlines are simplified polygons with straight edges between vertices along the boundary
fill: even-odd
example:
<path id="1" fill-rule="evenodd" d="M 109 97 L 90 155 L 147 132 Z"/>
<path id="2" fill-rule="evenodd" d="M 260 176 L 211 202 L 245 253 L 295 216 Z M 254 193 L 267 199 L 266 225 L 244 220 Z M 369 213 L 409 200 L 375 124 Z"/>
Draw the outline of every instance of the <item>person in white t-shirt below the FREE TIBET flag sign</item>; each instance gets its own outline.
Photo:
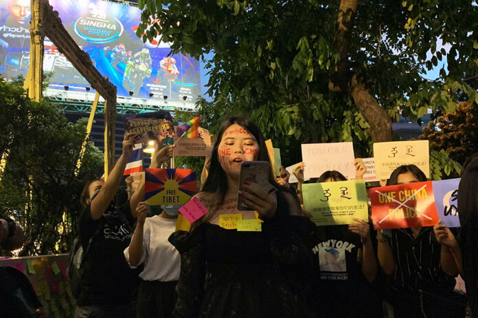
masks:
<path id="1" fill-rule="evenodd" d="M 144 263 L 144 270 L 139 273 L 137 318 L 171 317 L 177 300 L 174 289 L 179 280 L 181 258 L 177 249 L 168 242 L 168 237 L 176 230 L 181 206 L 162 208 L 160 215 L 148 217 L 148 204 L 138 204 L 135 232 L 130 245 L 124 249 L 131 268 Z"/>

